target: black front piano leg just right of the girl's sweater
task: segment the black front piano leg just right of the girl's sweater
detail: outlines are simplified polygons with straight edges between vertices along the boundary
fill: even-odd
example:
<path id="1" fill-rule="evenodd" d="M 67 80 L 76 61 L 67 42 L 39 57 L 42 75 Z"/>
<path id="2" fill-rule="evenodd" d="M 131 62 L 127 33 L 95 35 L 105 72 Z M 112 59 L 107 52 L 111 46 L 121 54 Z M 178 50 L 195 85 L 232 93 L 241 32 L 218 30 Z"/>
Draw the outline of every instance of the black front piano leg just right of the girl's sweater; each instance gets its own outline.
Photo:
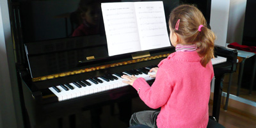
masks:
<path id="1" fill-rule="evenodd" d="M 224 77 L 224 74 L 215 76 L 215 81 L 214 81 L 215 84 L 214 84 L 212 116 L 214 116 L 216 118 L 217 122 L 219 121 L 219 116 L 220 116 L 223 77 Z"/>

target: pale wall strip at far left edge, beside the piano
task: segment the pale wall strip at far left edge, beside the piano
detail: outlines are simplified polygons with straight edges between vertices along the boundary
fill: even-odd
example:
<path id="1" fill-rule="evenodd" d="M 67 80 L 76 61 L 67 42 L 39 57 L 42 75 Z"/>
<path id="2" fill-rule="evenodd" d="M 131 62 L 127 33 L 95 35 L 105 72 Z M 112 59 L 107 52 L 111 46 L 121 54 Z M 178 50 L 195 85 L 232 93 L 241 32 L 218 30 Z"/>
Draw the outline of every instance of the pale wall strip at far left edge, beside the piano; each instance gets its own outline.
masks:
<path id="1" fill-rule="evenodd" d="M 23 127 L 8 1 L 0 0 L 0 127 Z"/>

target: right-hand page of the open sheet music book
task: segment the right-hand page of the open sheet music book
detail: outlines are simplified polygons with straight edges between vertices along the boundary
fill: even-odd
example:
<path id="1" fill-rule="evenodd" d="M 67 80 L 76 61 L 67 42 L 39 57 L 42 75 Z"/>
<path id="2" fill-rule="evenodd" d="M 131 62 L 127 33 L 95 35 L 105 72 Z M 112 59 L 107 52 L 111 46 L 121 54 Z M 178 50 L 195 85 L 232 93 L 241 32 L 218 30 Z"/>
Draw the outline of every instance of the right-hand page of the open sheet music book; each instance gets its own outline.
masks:
<path id="1" fill-rule="evenodd" d="M 163 1 L 135 2 L 141 50 L 170 46 Z"/>

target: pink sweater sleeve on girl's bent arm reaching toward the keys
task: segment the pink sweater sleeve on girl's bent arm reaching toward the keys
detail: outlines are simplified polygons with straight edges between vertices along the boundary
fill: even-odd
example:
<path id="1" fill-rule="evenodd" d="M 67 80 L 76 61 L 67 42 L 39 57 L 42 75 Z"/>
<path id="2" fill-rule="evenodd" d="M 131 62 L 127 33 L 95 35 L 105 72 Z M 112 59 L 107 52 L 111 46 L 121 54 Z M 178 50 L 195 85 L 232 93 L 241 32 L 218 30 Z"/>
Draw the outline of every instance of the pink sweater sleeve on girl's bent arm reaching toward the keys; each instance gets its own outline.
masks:
<path id="1" fill-rule="evenodd" d="M 166 104 L 171 93 L 172 86 L 168 82 L 167 74 L 163 68 L 159 67 L 156 79 L 150 87 L 143 78 L 136 79 L 133 87 L 138 91 L 139 96 L 148 107 L 157 109 Z"/>

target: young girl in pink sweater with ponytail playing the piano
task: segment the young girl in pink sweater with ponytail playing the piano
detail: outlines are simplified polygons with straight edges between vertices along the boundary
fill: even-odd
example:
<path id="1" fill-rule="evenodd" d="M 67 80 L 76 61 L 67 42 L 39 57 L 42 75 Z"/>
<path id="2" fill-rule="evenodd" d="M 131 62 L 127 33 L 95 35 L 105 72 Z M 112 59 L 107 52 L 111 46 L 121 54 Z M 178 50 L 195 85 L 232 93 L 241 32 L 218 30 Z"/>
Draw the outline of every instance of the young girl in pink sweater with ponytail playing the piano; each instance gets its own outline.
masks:
<path id="1" fill-rule="evenodd" d="M 143 78 L 122 76 L 131 84 L 148 107 L 161 111 L 134 113 L 130 126 L 207 127 L 211 80 L 214 76 L 214 33 L 207 28 L 202 12 L 195 6 L 180 5 L 170 13 L 170 40 L 175 47 L 162 60 L 152 86 Z"/>

